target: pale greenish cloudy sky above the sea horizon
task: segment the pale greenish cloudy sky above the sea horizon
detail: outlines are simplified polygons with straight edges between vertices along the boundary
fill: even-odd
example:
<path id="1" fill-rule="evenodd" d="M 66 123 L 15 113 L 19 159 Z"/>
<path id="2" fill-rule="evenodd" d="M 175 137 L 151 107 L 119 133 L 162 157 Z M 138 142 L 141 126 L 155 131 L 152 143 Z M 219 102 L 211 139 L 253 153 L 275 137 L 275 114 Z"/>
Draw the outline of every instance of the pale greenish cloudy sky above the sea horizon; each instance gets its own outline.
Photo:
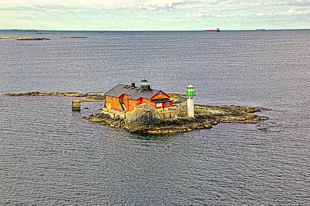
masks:
<path id="1" fill-rule="evenodd" d="M 310 29 L 310 0 L 0 0 L 0 29 Z"/>

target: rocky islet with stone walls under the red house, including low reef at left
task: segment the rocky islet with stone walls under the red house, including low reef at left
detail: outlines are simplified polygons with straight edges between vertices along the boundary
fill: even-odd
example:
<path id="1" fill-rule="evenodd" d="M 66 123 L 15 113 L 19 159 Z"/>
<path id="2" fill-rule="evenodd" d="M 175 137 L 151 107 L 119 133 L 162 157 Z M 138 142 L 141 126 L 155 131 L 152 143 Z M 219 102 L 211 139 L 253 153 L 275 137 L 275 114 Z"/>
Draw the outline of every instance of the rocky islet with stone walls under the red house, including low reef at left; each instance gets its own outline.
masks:
<path id="1" fill-rule="evenodd" d="M 81 101 L 92 102 L 98 98 L 106 101 L 108 93 L 78 93 L 78 92 L 27 92 L 27 93 L 7 93 L 5 95 L 15 96 L 57 96 L 57 97 L 87 97 Z M 170 100 L 178 102 L 184 95 L 170 93 Z M 110 99 L 110 98 L 108 98 Z M 111 98 L 112 99 L 112 98 Z M 188 100 L 188 99 L 187 99 Z M 75 102 L 75 101 L 73 101 Z M 259 108 L 244 107 L 236 105 L 210 106 L 193 105 L 193 115 L 188 114 L 188 105 L 181 102 L 174 103 L 171 107 L 155 108 L 152 105 L 143 103 L 134 107 L 128 112 L 121 112 L 115 108 L 102 108 L 101 113 L 92 114 L 86 118 L 92 123 L 108 125 L 110 127 L 123 128 L 129 132 L 147 134 L 167 134 L 193 131 L 197 129 L 210 129 L 219 123 L 255 123 L 268 119 L 268 117 L 253 114 L 261 111 Z M 108 104 L 106 104 L 108 105 Z"/>

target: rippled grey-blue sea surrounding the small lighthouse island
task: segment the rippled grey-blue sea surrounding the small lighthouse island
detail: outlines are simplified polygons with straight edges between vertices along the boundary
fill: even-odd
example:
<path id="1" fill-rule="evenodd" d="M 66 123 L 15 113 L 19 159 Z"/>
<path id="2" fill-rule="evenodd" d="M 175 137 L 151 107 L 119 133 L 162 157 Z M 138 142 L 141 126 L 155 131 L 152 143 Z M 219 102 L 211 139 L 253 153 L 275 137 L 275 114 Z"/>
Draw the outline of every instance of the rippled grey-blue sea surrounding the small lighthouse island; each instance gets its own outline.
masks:
<path id="1" fill-rule="evenodd" d="M 49 34 L 36 34 L 49 33 Z M 0 36 L 0 205 L 310 205 L 310 30 L 20 31 Z M 67 39 L 64 36 L 89 38 Z M 268 120 L 134 134 L 71 97 L 139 84 Z"/>

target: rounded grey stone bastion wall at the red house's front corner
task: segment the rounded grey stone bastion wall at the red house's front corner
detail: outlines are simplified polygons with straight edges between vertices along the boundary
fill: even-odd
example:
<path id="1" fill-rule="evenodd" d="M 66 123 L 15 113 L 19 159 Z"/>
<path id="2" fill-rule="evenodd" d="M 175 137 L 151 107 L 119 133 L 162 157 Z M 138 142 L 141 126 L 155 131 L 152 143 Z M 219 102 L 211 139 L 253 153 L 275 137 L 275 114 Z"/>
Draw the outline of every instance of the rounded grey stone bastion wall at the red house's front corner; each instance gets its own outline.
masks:
<path id="1" fill-rule="evenodd" d="M 159 113 L 152 105 L 138 105 L 133 111 L 126 113 L 125 122 L 126 126 L 131 130 L 137 130 L 143 127 L 152 128 L 159 122 Z"/>

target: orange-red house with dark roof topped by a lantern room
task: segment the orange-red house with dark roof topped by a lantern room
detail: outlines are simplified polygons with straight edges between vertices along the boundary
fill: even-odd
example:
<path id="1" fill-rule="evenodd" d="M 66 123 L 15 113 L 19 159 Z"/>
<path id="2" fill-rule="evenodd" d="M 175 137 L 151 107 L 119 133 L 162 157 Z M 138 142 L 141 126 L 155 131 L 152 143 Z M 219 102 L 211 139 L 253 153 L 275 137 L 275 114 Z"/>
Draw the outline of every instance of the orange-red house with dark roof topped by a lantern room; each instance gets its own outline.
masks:
<path id="1" fill-rule="evenodd" d="M 170 97 L 162 90 L 152 89 L 145 79 L 140 82 L 138 87 L 135 86 L 135 83 L 131 83 L 131 85 L 117 84 L 105 95 L 107 108 L 120 112 L 132 111 L 135 106 L 143 103 L 155 108 L 172 106 Z"/>

